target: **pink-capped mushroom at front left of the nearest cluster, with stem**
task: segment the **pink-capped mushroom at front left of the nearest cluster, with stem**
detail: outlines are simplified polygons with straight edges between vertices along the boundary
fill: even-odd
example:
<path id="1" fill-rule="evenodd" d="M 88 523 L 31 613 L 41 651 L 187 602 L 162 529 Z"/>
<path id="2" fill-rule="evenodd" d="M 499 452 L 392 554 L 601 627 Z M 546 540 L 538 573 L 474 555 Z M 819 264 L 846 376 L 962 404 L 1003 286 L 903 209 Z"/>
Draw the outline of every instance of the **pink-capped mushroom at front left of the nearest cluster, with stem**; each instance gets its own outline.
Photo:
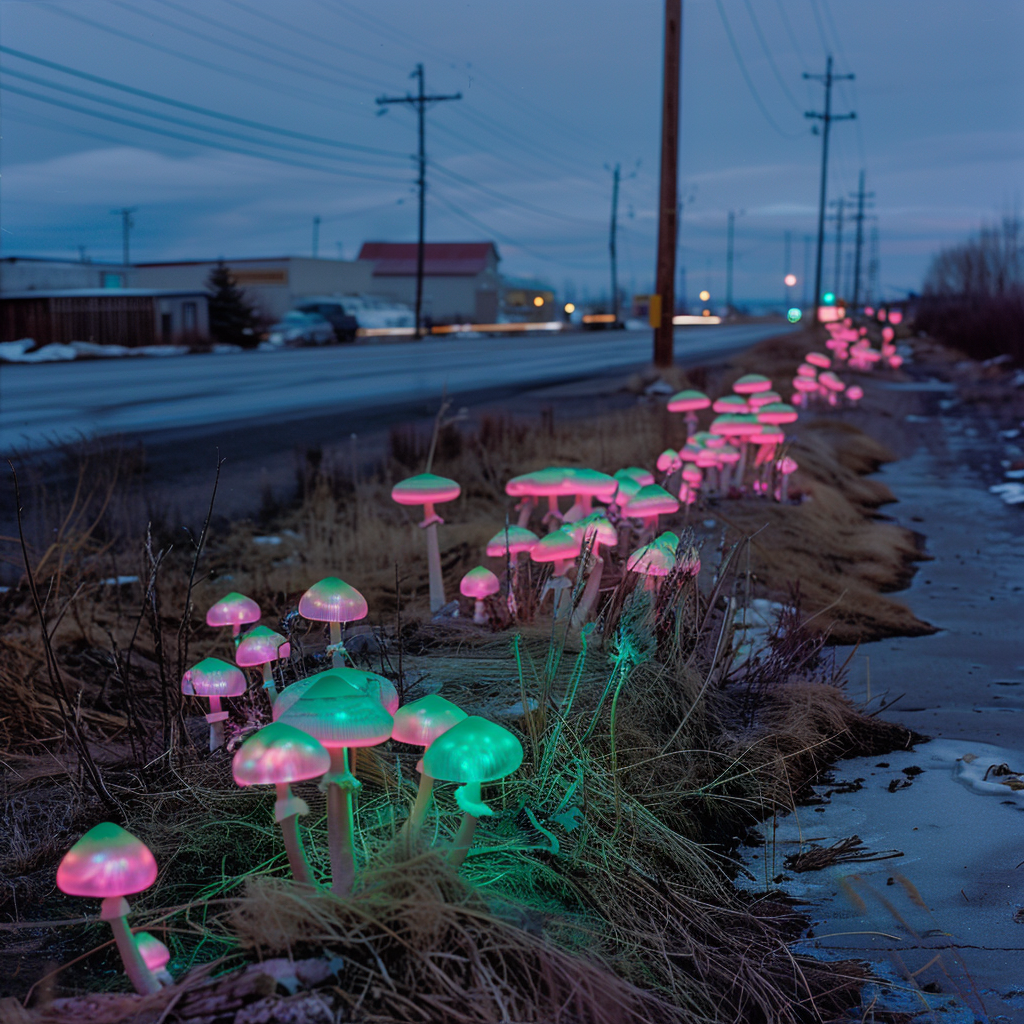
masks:
<path id="1" fill-rule="evenodd" d="M 273 817 L 285 837 L 292 877 L 305 885 L 311 885 L 313 878 L 299 836 L 299 815 L 308 814 L 309 807 L 301 797 L 292 796 L 291 783 L 316 778 L 330 767 L 327 748 L 285 722 L 271 722 L 254 732 L 231 761 L 239 785 L 272 785 L 276 791 Z"/>

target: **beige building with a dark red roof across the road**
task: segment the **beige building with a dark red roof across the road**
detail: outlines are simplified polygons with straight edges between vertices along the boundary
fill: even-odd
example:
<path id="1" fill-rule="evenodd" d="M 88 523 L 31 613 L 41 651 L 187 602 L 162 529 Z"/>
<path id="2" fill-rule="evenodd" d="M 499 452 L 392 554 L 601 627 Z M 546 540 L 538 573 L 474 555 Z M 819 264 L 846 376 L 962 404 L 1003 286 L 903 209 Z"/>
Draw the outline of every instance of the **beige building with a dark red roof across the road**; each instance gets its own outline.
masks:
<path id="1" fill-rule="evenodd" d="M 415 242 L 365 242 L 359 260 L 373 266 L 373 291 L 416 303 Z M 493 242 L 428 242 L 424 246 L 423 315 L 434 323 L 494 324 L 501 257 Z"/>

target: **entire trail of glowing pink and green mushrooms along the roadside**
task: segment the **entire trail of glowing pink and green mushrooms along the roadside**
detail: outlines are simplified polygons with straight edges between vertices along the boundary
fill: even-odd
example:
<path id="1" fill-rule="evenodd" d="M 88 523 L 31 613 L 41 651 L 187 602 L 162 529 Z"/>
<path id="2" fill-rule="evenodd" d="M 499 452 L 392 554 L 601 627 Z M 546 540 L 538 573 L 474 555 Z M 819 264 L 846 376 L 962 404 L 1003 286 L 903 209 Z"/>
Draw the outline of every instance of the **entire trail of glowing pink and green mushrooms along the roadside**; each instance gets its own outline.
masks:
<path id="1" fill-rule="evenodd" d="M 884 318 L 884 314 L 880 314 Z M 891 325 L 899 313 L 888 314 Z M 849 361 L 862 370 L 886 360 L 900 365 L 893 345 L 893 328 L 883 329 L 881 349 L 872 349 L 866 329 L 856 329 L 849 319 L 827 325 L 827 347 L 833 357 L 810 352 L 793 382 L 793 403 L 772 389 L 772 382 L 758 374 L 740 377 L 732 393 L 714 401 L 696 390 L 680 391 L 669 399 L 669 411 L 685 417 L 686 437 L 678 451 L 668 449 L 656 459 L 654 473 L 631 466 L 613 474 L 580 467 L 548 467 L 513 477 L 506 494 L 516 499 L 516 521 L 507 522 L 487 543 L 486 555 L 502 559 L 508 567 L 507 600 L 515 615 L 515 579 L 519 560 L 528 557 L 551 563 L 552 574 L 542 594 L 553 594 L 555 618 L 568 614 L 569 625 L 580 628 L 596 613 L 599 601 L 602 550 L 615 549 L 626 571 L 644 578 L 646 590 L 656 590 L 659 581 L 677 567 L 684 575 L 696 577 L 698 553 L 684 546 L 671 531 L 658 531 L 660 516 L 688 509 L 698 497 L 756 495 L 787 501 L 790 476 L 796 462 L 782 454 L 782 426 L 798 418 L 797 404 L 823 400 L 835 406 L 840 395 L 856 401 L 862 391 L 847 387 L 830 370 L 833 358 Z M 707 430 L 699 430 L 698 414 L 711 410 Z M 426 532 L 430 607 L 444 606 L 437 527 L 443 520 L 435 506 L 454 501 L 461 494 L 455 480 L 423 473 L 402 480 L 392 489 L 395 502 L 422 506 Z M 562 503 L 568 503 L 563 509 Z M 595 508 L 595 505 L 603 506 Z M 530 528 L 530 527 L 535 528 Z M 585 553 L 586 557 L 581 558 Z M 577 573 L 583 587 L 580 600 L 565 594 Z M 584 573 L 585 581 L 579 579 Z M 501 590 L 501 580 L 485 566 L 463 577 L 460 590 L 474 601 L 473 621 L 486 622 L 485 602 Z M 328 846 L 331 891 L 340 897 L 353 887 L 353 798 L 361 788 L 356 777 L 356 755 L 360 748 L 387 740 L 422 750 L 417 765 L 420 774 L 415 802 L 400 835 L 415 842 L 424 822 L 434 782 L 458 783 L 456 802 L 462 823 L 446 856 L 453 865 L 465 859 L 481 817 L 493 813 L 483 801 L 481 787 L 515 772 L 523 759 L 522 744 L 508 729 L 487 719 L 467 715 L 452 701 L 429 695 L 398 706 L 398 693 L 390 680 L 354 668 L 343 643 L 349 623 L 366 617 L 362 595 L 335 577 L 319 581 L 301 597 L 301 616 L 327 624 L 331 668 L 300 679 L 279 690 L 274 667 L 291 654 L 288 639 L 259 625 L 261 611 L 251 598 L 227 594 L 207 613 L 213 628 L 229 628 L 234 644 L 234 664 L 208 657 L 190 668 L 181 680 L 186 695 L 209 700 L 207 722 L 210 750 L 224 743 L 228 713 L 224 698 L 244 694 L 248 680 L 243 670 L 260 670 L 261 685 L 270 702 L 272 721 L 250 735 L 234 753 L 231 767 L 239 785 L 272 785 L 274 818 L 281 825 L 292 876 L 298 884 L 315 887 L 299 830 L 299 817 L 307 814 L 305 801 L 291 791 L 293 782 L 321 779 L 327 795 Z M 58 888 L 68 894 L 100 899 L 100 916 L 114 930 L 126 973 L 142 993 L 155 992 L 171 981 L 167 972 L 170 953 L 154 936 L 133 934 L 127 925 L 126 897 L 147 889 L 157 878 L 157 863 L 146 846 L 120 825 L 106 821 L 86 833 L 65 855 L 57 869 Z"/>

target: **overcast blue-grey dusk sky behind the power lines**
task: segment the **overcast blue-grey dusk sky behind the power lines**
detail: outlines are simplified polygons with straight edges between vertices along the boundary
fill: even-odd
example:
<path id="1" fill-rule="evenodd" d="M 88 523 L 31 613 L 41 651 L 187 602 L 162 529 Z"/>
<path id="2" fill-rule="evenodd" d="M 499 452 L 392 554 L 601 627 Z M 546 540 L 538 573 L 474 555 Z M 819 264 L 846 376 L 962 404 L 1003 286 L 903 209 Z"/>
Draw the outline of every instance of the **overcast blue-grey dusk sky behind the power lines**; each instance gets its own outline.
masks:
<path id="1" fill-rule="evenodd" d="M 0 0 L 0 251 L 118 259 L 124 206 L 138 260 L 306 255 L 314 216 L 321 255 L 412 241 L 415 114 L 375 100 L 422 61 L 430 92 L 462 92 L 427 118 L 428 240 L 494 240 L 506 273 L 593 295 L 621 163 L 620 280 L 644 292 L 662 31 L 654 0 Z M 804 112 L 822 89 L 802 74 L 829 52 L 856 74 L 834 112 L 857 120 L 834 127 L 828 195 L 866 171 L 887 296 L 1020 204 L 1021 0 L 685 0 L 691 301 L 723 291 L 729 210 L 736 301 L 781 299 L 786 231 L 803 276 L 820 168 Z M 834 245 L 829 225 L 829 285 Z"/>

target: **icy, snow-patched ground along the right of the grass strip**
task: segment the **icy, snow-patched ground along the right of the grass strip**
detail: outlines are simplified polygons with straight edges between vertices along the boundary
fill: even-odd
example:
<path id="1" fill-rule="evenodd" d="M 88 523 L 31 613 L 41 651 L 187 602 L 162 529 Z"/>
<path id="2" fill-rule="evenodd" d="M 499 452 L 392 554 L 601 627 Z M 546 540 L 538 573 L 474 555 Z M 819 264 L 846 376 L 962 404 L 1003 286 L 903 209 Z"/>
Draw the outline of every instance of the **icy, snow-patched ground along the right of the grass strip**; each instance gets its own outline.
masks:
<path id="1" fill-rule="evenodd" d="M 927 1005 L 936 1020 L 1017 1024 L 1024 788 L 1014 786 L 1024 776 L 982 776 L 990 765 L 1024 772 L 1024 509 L 988 490 L 1021 453 L 994 425 L 957 415 L 948 392 L 936 388 L 923 407 L 909 414 L 920 446 L 880 475 L 899 499 L 884 511 L 920 530 L 934 558 L 899 597 L 940 632 L 862 645 L 850 691 L 870 709 L 898 697 L 882 716 L 936 738 L 842 762 L 836 779 L 861 787 L 820 786 L 822 804 L 780 818 L 774 835 L 764 828 L 766 846 L 746 851 L 756 881 L 743 884 L 759 891 L 779 879 L 812 904 L 807 946 L 863 955 L 892 981 L 869 989 L 865 1006 L 878 996 L 877 1009 Z M 801 873 L 785 865 L 851 836 L 902 856 Z"/>

